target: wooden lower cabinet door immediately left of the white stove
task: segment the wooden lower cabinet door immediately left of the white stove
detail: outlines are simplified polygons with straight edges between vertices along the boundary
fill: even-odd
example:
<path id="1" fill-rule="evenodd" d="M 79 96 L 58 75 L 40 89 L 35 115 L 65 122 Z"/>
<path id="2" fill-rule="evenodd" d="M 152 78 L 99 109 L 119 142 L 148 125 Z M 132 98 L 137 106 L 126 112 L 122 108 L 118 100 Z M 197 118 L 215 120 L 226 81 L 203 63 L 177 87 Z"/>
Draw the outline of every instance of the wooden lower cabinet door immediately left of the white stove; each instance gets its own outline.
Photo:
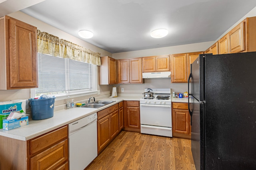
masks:
<path id="1" fill-rule="evenodd" d="M 140 108 L 127 107 L 128 127 L 140 129 Z"/>

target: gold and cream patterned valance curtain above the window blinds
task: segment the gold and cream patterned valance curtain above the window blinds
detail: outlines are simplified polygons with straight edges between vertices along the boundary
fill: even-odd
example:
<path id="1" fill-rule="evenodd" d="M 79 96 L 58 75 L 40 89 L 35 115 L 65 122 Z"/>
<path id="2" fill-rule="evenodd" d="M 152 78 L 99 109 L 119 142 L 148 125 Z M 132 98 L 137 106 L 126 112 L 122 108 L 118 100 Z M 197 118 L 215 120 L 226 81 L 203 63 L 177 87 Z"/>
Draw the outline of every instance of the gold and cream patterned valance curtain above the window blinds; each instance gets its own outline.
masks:
<path id="1" fill-rule="evenodd" d="M 37 30 L 37 51 L 38 53 L 52 55 L 55 57 L 69 58 L 75 61 L 82 61 L 100 66 L 100 53 L 94 53 L 70 41 L 59 39 L 54 35 Z"/>

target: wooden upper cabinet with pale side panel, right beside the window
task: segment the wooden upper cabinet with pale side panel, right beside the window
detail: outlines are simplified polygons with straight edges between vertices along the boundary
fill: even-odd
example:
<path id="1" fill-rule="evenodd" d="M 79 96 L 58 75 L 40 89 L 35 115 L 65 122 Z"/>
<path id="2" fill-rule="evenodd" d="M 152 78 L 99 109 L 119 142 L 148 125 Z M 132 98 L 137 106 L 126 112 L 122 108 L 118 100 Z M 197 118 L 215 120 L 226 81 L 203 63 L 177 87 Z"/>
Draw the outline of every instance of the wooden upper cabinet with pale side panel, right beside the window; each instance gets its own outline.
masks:
<path id="1" fill-rule="evenodd" d="M 99 84 L 117 84 L 117 61 L 108 56 L 100 57 Z"/>

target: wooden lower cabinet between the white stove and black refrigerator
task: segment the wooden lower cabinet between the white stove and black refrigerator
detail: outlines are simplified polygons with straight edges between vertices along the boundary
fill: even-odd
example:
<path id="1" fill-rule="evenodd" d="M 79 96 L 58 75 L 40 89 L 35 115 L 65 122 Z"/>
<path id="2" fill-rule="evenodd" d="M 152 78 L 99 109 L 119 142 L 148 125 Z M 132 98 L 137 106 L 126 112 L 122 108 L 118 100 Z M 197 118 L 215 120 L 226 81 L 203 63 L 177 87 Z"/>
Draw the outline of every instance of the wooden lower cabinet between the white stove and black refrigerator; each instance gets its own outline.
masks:
<path id="1" fill-rule="evenodd" d="M 190 114 L 187 103 L 172 102 L 172 136 L 191 139 Z"/>

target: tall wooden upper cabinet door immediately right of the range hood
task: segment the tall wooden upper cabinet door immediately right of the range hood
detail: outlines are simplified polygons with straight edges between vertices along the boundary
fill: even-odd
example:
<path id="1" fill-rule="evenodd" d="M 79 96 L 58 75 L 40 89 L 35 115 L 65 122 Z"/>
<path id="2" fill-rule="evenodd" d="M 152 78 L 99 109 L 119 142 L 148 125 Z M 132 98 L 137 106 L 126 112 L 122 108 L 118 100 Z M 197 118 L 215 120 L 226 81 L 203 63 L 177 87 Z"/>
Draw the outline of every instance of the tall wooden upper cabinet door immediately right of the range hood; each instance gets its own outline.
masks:
<path id="1" fill-rule="evenodd" d="M 188 82 L 187 54 L 172 55 L 172 82 Z"/>

